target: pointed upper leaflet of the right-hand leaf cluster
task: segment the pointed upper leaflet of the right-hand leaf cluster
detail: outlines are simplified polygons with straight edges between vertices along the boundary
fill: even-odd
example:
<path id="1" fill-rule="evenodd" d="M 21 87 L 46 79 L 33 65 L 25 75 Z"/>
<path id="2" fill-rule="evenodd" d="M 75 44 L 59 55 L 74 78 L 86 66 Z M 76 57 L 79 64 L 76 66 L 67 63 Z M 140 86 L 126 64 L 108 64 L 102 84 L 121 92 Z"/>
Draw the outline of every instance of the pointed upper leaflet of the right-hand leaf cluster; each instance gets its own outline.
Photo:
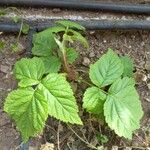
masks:
<path id="1" fill-rule="evenodd" d="M 109 49 L 95 64 L 90 66 L 90 79 L 98 87 L 112 84 L 123 73 L 121 60 Z"/>

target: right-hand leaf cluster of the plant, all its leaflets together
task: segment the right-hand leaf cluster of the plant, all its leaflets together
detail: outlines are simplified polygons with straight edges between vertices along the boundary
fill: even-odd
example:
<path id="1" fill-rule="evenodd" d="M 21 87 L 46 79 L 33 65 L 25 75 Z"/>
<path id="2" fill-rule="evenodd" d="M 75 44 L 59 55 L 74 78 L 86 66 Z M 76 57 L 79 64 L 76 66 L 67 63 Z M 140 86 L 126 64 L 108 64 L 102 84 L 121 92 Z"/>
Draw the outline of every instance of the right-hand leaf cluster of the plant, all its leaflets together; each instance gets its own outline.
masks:
<path id="1" fill-rule="evenodd" d="M 90 66 L 93 83 L 83 98 L 83 108 L 104 116 L 108 126 L 119 136 L 132 139 L 143 116 L 139 95 L 132 78 L 133 65 L 129 57 L 121 59 L 111 49 Z"/>

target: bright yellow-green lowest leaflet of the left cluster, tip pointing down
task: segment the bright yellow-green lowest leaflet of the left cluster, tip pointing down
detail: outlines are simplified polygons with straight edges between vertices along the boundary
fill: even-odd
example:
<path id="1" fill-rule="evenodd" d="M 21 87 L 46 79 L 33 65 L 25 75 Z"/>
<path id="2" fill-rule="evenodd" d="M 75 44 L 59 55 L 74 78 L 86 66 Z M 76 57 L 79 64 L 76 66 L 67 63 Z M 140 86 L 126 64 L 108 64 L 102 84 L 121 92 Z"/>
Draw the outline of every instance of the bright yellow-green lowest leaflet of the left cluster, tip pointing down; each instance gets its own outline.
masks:
<path id="1" fill-rule="evenodd" d="M 6 98 L 4 110 L 15 120 L 24 142 L 42 132 L 48 117 L 47 100 L 33 88 L 12 91 Z"/>

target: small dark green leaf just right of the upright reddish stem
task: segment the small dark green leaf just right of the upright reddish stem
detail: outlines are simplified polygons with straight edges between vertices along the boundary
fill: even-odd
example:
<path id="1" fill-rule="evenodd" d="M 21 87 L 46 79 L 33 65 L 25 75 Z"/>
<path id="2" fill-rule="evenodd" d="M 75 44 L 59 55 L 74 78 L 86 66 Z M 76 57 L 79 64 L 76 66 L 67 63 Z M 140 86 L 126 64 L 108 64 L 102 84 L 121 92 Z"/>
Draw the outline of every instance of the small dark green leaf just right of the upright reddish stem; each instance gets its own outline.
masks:
<path id="1" fill-rule="evenodd" d="M 74 48 L 67 48 L 66 56 L 68 63 L 72 64 L 78 58 L 78 53 Z"/>

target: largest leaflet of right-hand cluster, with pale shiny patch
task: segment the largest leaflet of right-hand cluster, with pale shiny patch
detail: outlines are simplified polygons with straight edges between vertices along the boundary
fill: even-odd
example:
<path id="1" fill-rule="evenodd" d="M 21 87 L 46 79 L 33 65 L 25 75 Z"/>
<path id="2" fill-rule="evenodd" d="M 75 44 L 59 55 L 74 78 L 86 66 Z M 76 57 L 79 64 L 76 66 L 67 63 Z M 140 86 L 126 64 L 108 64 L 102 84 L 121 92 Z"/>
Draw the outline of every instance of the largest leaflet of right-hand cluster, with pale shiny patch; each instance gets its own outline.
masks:
<path id="1" fill-rule="evenodd" d="M 116 134 L 132 139 L 132 133 L 140 127 L 143 116 L 133 79 L 124 77 L 111 85 L 104 103 L 104 115 L 108 126 Z"/>

